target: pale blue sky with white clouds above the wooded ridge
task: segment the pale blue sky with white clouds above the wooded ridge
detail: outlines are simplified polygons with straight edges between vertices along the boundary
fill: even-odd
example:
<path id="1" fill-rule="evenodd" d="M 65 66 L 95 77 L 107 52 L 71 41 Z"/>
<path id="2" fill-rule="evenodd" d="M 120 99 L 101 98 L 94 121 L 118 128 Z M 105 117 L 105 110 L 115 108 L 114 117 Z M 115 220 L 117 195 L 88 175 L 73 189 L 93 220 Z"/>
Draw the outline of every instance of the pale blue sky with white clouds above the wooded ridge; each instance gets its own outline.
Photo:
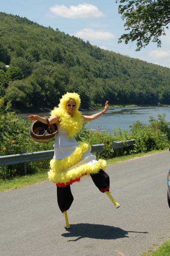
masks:
<path id="1" fill-rule="evenodd" d="M 0 12 L 19 15 L 43 26 L 58 28 L 103 49 L 170 67 L 170 31 L 161 37 L 162 46 L 150 43 L 136 52 L 136 45 L 118 44 L 124 22 L 115 0 L 2 0 Z"/>

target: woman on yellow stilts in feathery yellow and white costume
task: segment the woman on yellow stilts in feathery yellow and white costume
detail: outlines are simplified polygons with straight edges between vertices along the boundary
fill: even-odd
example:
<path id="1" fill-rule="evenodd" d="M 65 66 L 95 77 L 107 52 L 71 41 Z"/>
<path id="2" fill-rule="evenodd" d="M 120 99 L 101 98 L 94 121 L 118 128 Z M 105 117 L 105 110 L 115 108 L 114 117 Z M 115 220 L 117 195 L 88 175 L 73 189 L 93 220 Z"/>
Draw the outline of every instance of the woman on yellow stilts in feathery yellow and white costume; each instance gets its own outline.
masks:
<path id="1" fill-rule="evenodd" d="M 106 161 L 96 160 L 90 153 L 90 145 L 85 142 L 78 143 L 75 135 L 81 130 L 83 122 L 95 120 L 108 109 L 106 101 L 103 111 L 91 116 L 82 115 L 78 108 L 81 99 L 77 93 L 66 93 L 62 96 L 58 108 L 51 112 L 49 123 L 58 125 L 58 133 L 55 136 L 54 157 L 50 161 L 49 180 L 56 183 L 58 206 L 64 212 L 66 228 L 69 228 L 67 210 L 73 202 L 70 185 L 80 181 L 81 177 L 90 175 L 98 189 L 105 193 L 116 208 L 120 205 L 112 198 L 109 192 L 109 176 L 104 172 Z M 45 117 L 29 115 L 30 120 L 38 120 L 47 124 Z"/>

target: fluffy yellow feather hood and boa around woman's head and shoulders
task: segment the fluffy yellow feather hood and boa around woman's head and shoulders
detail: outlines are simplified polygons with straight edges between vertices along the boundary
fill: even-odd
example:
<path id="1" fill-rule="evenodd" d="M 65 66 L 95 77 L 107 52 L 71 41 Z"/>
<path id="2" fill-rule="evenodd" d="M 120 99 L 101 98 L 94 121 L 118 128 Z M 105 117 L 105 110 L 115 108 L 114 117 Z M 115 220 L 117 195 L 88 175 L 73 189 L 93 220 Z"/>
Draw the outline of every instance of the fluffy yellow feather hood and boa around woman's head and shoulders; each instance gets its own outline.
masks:
<path id="1" fill-rule="evenodd" d="M 76 103 L 73 116 L 70 116 L 66 111 L 66 104 L 70 99 L 73 99 Z M 60 125 L 63 129 L 66 129 L 68 137 L 74 137 L 82 128 L 83 118 L 81 113 L 78 111 L 80 102 L 78 93 L 66 93 L 62 96 L 58 108 L 55 107 L 51 111 L 51 116 L 59 116 Z"/>

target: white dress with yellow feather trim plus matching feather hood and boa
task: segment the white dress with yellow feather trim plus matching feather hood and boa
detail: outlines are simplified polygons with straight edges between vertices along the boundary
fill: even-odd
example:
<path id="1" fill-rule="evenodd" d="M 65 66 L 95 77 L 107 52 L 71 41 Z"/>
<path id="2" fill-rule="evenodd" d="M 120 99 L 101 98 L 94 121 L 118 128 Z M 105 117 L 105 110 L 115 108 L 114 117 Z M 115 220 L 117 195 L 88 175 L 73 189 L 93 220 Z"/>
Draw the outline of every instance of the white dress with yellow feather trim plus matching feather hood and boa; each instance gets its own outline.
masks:
<path id="1" fill-rule="evenodd" d="M 76 108 L 73 116 L 66 111 L 67 102 L 73 99 Z M 75 181 L 80 181 L 84 175 L 98 173 L 100 169 L 106 168 L 105 160 L 96 160 L 96 157 L 90 153 L 88 143 L 78 143 L 74 136 L 81 130 L 83 119 L 78 111 L 80 106 L 80 97 L 77 93 L 66 93 L 58 105 L 51 112 L 51 116 L 59 116 L 60 125 L 58 134 L 55 137 L 55 155 L 50 162 L 49 180 L 56 183 L 57 186 L 64 187 Z"/>

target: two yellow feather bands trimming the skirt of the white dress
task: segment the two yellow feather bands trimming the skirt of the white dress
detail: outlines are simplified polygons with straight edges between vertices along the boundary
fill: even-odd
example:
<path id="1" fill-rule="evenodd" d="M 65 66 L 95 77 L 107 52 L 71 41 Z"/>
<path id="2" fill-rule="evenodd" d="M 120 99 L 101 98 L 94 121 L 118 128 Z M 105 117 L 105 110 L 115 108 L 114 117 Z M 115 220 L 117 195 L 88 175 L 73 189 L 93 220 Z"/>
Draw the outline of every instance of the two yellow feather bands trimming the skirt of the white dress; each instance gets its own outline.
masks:
<path id="1" fill-rule="evenodd" d="M 87 143 L 80 143 L 75 151 L 68 157 L 61 160 L 53 158 L 50 161 L 51 170 L 48 172 L 49 180 L 54 183 L 67 183 L 70 180 L 80 178 L 82 175 L 88 175 L 91 173 L 97 173 L 100 169 L 105 170 L 106 161 L 99 159 L 97 163 L 89 165 L 88 163 L 73 169 L 62 172 L 63 169 L 67 169 L 74 166 L 81 160 L 83 154 L 88 150 L 89 145 Z"/>

